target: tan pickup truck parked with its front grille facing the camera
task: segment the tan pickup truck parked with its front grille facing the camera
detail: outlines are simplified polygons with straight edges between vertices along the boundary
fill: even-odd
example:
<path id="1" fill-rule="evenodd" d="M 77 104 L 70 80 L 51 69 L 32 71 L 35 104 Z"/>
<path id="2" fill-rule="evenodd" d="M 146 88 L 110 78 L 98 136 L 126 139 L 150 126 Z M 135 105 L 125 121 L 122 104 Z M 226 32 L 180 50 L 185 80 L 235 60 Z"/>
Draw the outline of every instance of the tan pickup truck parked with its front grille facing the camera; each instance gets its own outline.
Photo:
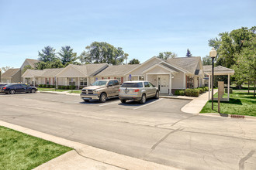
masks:
<path id="1" fill-rule="evenodd" d="M 81 99 L 85 102 L 89 100 L 99 100 L 104 103 L 108 98 L 118 97 L 119 81 L 115 79 L 97 80 L 92 86 L 81 90 Z"/>

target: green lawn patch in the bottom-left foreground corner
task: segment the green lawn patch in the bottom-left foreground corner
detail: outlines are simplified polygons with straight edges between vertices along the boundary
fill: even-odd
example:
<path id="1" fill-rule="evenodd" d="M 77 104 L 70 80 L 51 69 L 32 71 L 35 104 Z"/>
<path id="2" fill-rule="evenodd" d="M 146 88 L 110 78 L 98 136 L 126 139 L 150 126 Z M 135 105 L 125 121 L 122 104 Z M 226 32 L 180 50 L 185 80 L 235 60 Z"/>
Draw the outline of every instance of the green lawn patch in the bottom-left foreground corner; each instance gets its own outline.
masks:
<path id="1" fill-rule="evenodd" d="M 72 148 L 0 126 L 0 169 L 32 169 Z"/>

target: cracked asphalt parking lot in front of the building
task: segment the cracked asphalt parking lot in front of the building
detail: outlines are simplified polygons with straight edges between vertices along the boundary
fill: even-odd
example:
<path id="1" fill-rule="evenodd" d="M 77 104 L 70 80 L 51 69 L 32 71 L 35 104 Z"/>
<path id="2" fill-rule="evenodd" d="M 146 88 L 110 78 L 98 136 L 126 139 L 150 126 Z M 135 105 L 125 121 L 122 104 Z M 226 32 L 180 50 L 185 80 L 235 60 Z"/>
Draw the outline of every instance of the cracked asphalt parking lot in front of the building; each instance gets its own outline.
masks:
<path id="1" fill-rule="evenodd" d="M 140 105 L 50 93 L 0 95 L 0 119 L 185 169 L 255 169 L 256 121 L 185 114 L 188 100 Z"/>

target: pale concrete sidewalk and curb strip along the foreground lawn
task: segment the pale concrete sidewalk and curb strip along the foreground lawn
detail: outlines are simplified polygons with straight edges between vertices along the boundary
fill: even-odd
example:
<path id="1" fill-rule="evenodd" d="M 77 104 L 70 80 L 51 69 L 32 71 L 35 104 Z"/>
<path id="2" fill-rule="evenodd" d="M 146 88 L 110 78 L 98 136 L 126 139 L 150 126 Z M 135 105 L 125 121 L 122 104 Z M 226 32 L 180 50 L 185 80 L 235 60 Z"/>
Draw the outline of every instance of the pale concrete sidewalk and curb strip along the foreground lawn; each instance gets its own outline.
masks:
<path id="1" fill-rule="evenodd" d="M 112 151 L 106 151 L 99 148 L 94 148 L 89 145 L 84 145 L 75 141 L 69 141 L 64 138 L 58 138 L 50 134 L 45 134 L 40 131 L 34 131 L 29 128 L 23 128 L 16 124 L 9 124 L 5 121 L 0 121 L 0 126 L 11 128 L 16 131 L 20 131 L 25 134 L 35 136 L 37 138 L 43 138 L 47 141 L 64 145 L 70 148 L 74 148 L 72 151 L 68 151 L 66 154 L 44 163 L 43 165 L 35 168 L 41 169 L 133 169 L 133 170 L 173 170 L 178 168 L 172 168 L 166 165 L 160 165 L 154 162 L 147 162 L 139 158 L 132 158 L 126 155 L 116 154 Z"/>

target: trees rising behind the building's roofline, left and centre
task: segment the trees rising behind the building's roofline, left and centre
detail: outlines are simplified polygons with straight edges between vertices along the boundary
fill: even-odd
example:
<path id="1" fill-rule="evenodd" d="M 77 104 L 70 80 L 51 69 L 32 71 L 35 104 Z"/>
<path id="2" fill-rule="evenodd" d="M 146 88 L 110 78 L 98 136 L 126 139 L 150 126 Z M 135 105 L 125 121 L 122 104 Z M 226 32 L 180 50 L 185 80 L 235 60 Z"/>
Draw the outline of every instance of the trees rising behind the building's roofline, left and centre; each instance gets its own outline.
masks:
<path id="1" fill-rule="evenodd" d="M 110 65 L 120 65 L 126 62 L 129 54 L 125 53 L 121 47 L 115 47 L 107 42 L 92 42 L 90 46 L 86 46 L 85 50 L 78 56 L 74 53 L 71 46 L 62 46 L 60 52 L 52 46 L 45 46 L 38 52 L 39 63 L 36 63 L 36 70 L 49 68 L 62 68 L 68 64 L 89 64 L 89 63 L 108 63 Z M 157 57 L 168 59 L 176 57 L 176 53 L 163 52 Z M 140 64 L 139 59 L 130 59 L 128 64 Z M 31 66 L 25 66 L 22 73 L 27 69 L 33 69 Z"/>

